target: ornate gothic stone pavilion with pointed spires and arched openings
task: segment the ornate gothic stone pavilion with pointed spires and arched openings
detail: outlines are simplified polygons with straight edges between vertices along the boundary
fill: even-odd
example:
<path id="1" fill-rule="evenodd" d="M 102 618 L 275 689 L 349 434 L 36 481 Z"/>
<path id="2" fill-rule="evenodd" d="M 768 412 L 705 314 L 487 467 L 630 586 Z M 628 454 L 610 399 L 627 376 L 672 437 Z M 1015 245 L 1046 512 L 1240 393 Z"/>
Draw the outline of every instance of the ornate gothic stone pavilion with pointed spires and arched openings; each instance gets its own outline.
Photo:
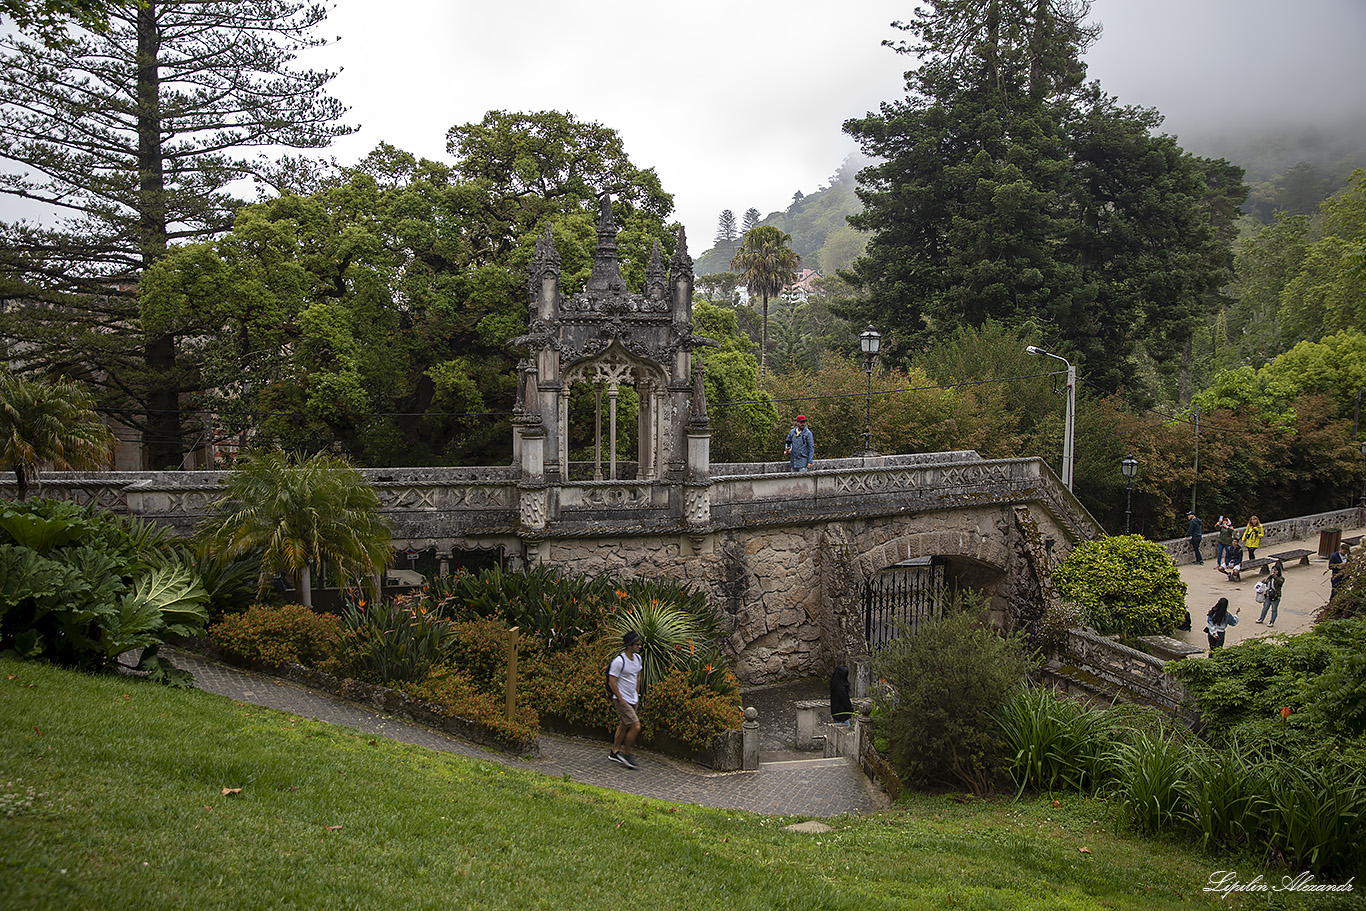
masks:
<path id="1" fill-rule="evenodd" d="M 612 204 L 604 197 L 593 272 L 583 292 L 561 292 L 560 255 L 546 227 L 531 260 L 527 309 L 529 331 L 511 343 L 529 355 L 518 366 L 512 421 L 523 541 L 567 518 L 567 508 L 585 507 L 609 514 L 631 509 L 634 523 L 660 530 L 703 529 L 710 430 L 702 369 L 694 369 L 693 348 L 716 343 L 693 335 L 693 260 L 684 232 L 679 231 L 668 270 L 656 240 L 643 292 L 627 291 Z M 617 402 L 627 385 L 638 400 L 637 458 L 622 463 Z M 591 463 L 570 462 L 575 387 L 593 395 Z"/>

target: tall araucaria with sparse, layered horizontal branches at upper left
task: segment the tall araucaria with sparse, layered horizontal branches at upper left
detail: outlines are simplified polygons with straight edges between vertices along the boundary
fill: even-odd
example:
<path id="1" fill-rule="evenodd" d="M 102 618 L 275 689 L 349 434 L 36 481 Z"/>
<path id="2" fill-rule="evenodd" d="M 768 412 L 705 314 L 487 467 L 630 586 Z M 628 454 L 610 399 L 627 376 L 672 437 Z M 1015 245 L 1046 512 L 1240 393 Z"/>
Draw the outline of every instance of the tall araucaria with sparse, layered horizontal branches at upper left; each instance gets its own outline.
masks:
<path id="1" fill-rule="evenodd" d="M 324 92 L 333 74 L 292 66 L 325 15 L 306 0 L 139 0 L 56 48 L 0 38 L 0 193 L 52 216 L 0 224 L 0 336 L 25 367 L 94 384 L 150 467 L 189 448 L 182 407 L 201 378 L 193 339 L 139 320 L 139 280 L 171 244 L 232 227 L 232 184 L 272 180 L 253 150 L 348 131 Z"/>

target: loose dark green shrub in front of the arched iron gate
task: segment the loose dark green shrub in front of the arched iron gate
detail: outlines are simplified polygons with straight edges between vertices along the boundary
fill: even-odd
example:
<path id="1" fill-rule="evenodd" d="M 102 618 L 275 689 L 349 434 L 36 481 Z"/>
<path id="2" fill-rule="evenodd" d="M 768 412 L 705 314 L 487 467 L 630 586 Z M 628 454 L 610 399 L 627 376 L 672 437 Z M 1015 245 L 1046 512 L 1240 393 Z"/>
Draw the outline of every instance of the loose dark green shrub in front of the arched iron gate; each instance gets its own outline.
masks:
<path id="1" fill-rule="evenodd" d="M 1014 636 L 984 627 L 962 601 L 874 657 L 889 758 L 903 780 L 989 792 L 1005 772 L 997 718 L 1034 661 Z"/>

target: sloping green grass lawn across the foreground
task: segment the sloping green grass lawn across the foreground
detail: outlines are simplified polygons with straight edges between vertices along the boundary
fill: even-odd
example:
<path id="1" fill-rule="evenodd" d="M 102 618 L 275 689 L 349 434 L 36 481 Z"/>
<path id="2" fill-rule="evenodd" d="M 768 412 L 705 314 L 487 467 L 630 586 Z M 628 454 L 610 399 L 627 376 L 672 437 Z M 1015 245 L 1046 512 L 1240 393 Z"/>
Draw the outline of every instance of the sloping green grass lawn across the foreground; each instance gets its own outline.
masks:
<path id="1" fill-rule="evenodd" d="M 1104 803 L 1061 803 L 918 796 L 794 833 L 795 817 L 661 803 L 0 660 L 5 911 L 1347 907 L 1221 900 L 1202 892 L 1210 874 L 1250 881 L 1251 859 L 1120 837 Z"/>

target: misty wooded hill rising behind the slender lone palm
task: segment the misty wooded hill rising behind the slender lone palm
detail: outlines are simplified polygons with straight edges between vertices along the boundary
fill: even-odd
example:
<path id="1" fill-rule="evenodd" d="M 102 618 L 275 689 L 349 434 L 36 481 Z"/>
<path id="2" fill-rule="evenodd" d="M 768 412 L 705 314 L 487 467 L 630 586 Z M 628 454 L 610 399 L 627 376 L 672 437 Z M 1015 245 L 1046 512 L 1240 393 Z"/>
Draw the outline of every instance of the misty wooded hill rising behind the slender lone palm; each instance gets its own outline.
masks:
<path id="1" fill-rule="evenodd" d="M 820 269 L 822 275 L 831 275 L 835 269 L 848 266 L 866 243 L 866 236 L 846 221 L 846 216 L 863 208 L 854 195 L 854 187 L 858 171 L 865 164 L 855 156 L 846 158 L 828 187 L 809 195 L 798 191 L 785 212 L 769 213 L 758 224 L 773 225 L 792 235 L 792 250 L 802 257 L 803 269 Z M 723 219 L 712 249 L 697 258 L 697 275 L 729 272 L 731 257 L 735 255 L 742 232 L 736 231 L 734 238 L 727 238 L 725 234 Z"/>

